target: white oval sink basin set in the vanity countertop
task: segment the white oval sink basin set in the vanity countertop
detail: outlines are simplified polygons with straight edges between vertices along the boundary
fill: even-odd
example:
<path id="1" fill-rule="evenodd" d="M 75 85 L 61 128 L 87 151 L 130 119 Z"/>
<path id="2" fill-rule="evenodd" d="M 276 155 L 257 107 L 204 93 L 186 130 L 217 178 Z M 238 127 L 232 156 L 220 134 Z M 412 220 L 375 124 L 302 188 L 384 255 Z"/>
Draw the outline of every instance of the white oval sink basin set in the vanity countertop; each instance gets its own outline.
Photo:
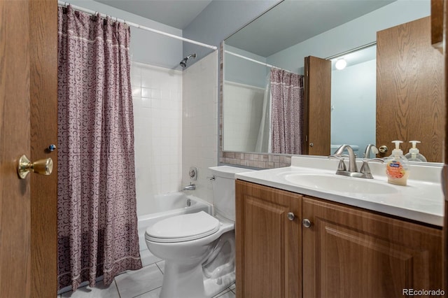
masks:
<path id="1" fill-rule="evenodd" d="M 393 194 L 395 187 L 371 179 L 351 178 L 336 174 L 290 174 L 285 176 L 290 183 L 314 190 L 359 193 L 359 194 Z"/>

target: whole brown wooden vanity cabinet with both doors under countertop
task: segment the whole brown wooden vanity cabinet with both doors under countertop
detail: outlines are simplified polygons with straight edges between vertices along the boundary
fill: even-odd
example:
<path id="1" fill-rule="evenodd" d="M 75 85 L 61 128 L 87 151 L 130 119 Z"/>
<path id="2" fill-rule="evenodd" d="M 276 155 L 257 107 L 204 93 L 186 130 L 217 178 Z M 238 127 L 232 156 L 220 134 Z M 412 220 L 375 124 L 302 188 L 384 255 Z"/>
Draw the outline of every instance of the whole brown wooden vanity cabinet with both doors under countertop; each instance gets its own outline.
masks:
<path id="1" fill-rule="evenodd" d="M 237 298 L 447 291 L 442 229 L 241 180 L 236 207 Z"/>

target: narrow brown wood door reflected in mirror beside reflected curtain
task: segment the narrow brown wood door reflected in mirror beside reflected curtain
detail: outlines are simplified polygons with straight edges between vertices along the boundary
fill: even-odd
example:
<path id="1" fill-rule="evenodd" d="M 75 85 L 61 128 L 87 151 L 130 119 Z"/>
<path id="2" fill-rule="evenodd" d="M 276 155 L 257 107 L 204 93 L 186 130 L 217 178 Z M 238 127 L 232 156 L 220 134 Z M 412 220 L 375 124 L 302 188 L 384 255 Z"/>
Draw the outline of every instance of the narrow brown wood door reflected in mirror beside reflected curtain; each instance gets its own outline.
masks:
<path id="1" fill-rule="evenodd" d="M 303 154 L 330 155 L 331 61 L 305 57 Z"/>

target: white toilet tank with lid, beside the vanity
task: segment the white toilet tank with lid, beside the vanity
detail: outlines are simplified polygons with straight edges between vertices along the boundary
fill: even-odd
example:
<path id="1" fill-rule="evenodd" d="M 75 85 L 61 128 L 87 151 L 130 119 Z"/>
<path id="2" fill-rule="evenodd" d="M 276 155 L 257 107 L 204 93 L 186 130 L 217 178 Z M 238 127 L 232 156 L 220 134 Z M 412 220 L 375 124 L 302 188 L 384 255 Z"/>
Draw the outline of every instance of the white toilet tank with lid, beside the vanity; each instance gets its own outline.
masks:
<path id="1" fill-rule="evenodd" d="M 235 166 L 213 166 L 209 169 L 215 178 L 212 186 L 216 214 L 235 220 L 235 173 L 252 170 Z"/>

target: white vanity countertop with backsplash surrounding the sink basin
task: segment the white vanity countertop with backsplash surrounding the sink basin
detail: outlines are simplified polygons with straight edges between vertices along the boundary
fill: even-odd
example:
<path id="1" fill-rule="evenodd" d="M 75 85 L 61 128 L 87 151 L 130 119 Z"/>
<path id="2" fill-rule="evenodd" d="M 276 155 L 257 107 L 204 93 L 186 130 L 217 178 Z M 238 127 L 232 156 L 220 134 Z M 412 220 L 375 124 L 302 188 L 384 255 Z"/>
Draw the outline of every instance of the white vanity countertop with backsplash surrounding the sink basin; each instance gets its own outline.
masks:
<path id="1" fill-rule="evenodd" d="M 358 169 L 361 163 L 358 162 Z M 444 196 L 441 186 L 442 164 L 412 164 L 407 185 L 402 186 L 387 183 L 384 164 L 370 163 L 370 169 L 374 176 L 374 179 L 371 180 L 372 183 L 384 184 L 387 185 L 385 187 L 396 189 L 395 193 L 388 194 L 363 194 L 350 190 L 335 192 L 318 187 L 304 187 L 286 180 L 286 176 L 293 174 L 335 175 L 337 164 L 337 160 L 321 157 L 292 157 L 291 166 L 236 173 L 235 177 L 239 180 L 442 227 L 444 217 Z M 338 175 L 338 178 L 341 177 L 343 176 Z M 346 179 L 370 180 L 350 177 L 346 177 Z"/>

